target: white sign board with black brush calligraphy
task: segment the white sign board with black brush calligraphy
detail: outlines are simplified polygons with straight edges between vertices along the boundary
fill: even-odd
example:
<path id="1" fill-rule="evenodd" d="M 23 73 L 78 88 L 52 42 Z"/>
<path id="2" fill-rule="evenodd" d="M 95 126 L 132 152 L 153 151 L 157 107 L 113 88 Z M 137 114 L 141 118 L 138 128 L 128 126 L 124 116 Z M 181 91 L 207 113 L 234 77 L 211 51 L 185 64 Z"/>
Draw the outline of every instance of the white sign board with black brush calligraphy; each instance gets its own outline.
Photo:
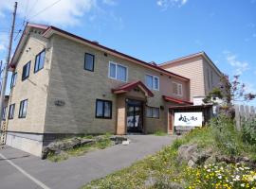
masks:
<path id="1" fill-rule="evenodd" d="M 202 112 L 175 112 L 174 126 L 175 127 L 202 127 L 203 113 Z"/>

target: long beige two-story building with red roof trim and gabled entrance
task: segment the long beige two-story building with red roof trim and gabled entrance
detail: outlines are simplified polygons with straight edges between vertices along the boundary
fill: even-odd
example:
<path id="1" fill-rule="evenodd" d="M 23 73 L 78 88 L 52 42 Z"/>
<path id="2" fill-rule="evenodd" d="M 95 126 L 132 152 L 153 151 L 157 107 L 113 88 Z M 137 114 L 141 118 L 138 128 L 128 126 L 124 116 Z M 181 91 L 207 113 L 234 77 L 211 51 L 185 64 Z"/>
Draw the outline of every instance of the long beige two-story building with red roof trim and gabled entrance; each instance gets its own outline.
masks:
<path id="1" fill-rule="evenodd" d="M 9 69 L 6 144 L 38 156 L 69 135 L 172 133 L 169 107 L 192 104 L 190 78 L 54 26 L 27 24 Z"/>

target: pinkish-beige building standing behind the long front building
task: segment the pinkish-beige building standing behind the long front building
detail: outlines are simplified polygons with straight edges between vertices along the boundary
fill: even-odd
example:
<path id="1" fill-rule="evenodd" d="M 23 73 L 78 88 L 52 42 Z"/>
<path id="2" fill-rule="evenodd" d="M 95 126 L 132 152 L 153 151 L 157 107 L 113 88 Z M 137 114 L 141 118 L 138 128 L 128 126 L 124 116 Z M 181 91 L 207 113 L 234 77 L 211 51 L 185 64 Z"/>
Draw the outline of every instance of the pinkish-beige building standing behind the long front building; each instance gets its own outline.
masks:
<path id="1" fill-rule="evenodd" d="M 224 76 L 205 52 L 195 53 L 176 60 L 159 64 L 160 68 L 190 78 L 191 101 L 202 104 L 202 99 L 213 88 L 219 87 Z"/>

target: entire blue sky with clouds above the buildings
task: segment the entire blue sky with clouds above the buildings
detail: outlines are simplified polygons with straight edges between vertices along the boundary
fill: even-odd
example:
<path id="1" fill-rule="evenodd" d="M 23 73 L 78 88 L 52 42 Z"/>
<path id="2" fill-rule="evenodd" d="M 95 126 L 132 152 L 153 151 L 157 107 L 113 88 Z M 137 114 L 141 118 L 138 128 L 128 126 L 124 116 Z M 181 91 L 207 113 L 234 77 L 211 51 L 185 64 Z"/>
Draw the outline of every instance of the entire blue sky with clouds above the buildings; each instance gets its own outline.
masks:
<path id="1" fill-rule="evenodd" d="M 0 0 L 0 60 L 13 4 Z M 24 20 L 156 63 L 205 51 L 222 72 L 241 75 L 247 92 L 256 93 L 256 0 L 20 0 L 16 31 Z M 14 35 L 14 44 L 20 36 Z"/>

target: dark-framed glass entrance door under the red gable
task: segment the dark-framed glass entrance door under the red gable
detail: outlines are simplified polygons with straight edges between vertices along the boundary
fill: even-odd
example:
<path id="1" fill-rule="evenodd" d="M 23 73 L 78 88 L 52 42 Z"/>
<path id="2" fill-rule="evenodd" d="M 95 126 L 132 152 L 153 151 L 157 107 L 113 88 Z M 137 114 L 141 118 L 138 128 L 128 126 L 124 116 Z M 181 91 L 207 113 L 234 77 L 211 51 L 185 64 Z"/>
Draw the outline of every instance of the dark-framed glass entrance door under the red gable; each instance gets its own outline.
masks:
<path id="1" fill-rule="evenodd" d="M 143 129 L 143 102 L 127 100 L 127 132 L 142 132 Z"/>

